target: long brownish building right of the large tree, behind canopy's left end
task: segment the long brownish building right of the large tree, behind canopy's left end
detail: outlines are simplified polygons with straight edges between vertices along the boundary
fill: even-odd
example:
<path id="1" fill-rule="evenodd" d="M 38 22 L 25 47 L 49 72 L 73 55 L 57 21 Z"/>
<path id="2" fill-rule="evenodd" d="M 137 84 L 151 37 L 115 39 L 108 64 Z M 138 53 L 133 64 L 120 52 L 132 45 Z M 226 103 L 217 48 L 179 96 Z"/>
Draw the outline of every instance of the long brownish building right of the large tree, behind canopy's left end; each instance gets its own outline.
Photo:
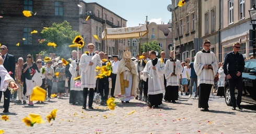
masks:
<path id="1" fill-rule="evenodd" d="M 127 39 L 102 40 L 101 33 L 106 28 L 126 27 L 127 20 L 97 3 L 80 1 L 79 32 L 85 39 L 85 50 L 88 43 L 95 44 L 95 50 L 107 52 L 108 55 L 119 55 L 122 58 L 123 50 L 126 50 Z M 86 18 L 89 20 L 86 21 Z M 99 41 L 94 37 L 97 35 Z"/>

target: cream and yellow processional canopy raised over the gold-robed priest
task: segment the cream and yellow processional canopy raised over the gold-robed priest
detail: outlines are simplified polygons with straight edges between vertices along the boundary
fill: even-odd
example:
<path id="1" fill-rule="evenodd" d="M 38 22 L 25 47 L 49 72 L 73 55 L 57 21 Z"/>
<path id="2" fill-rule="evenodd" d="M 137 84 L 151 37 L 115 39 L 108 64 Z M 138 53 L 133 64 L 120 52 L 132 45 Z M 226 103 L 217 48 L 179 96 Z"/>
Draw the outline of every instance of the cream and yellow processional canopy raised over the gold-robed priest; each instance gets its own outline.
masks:
<path id="1" fill-rule="evenodd" d="M 146 25 L 129 28 L 109 28 L 106 30 L 102 32 L 102 39 L 139 38 L 148 33 Z"/>

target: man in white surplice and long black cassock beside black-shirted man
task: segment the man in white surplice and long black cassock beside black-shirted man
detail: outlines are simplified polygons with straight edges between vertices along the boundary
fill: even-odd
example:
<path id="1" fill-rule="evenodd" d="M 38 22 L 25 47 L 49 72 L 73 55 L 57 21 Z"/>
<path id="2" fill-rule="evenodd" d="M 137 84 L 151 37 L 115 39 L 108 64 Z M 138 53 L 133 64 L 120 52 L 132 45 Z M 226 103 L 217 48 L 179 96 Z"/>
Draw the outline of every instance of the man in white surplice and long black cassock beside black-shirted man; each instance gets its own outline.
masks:
<path id="1" fill-rule="evenodd" d="M 218 63 L 215 54 L 210 51 L 211 43 L 206 39 L 203 43 L 203 50 L 195 55 L 194 69 L 199 85 L 199 108 L 208 112 L 208 100 L 214 84 L 214 76 L 218 71 Z"/>

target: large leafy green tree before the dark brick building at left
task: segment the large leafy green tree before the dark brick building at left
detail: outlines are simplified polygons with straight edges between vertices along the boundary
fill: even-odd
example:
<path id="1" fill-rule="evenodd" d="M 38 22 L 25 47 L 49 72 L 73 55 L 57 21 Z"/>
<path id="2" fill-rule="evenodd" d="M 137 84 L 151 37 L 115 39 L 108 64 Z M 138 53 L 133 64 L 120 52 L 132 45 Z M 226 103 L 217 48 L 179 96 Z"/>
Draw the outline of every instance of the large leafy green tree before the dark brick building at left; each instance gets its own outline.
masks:
<path id="1" fill-rule="evenodd" d="M 71 51 L 77 49 L 69 48 L 68 45 L 73 44 L 73 39 L 77 35 L 80 35 L 80 33 L 73 31 L 71 25 L 67 21 L 64 21 L 60 24 L 54 22 L 52 26 L 42 30 L 40 35 L 45 39 L 42 42 L 44 50 L 41 53 L 43 56 L 49 56 L 49 53 L 56 53 L 56 56 L 67 59 L 70 57 Z M 57 45 L 56 48 L 47 46 L 49 42 L 55 43 Z"/>

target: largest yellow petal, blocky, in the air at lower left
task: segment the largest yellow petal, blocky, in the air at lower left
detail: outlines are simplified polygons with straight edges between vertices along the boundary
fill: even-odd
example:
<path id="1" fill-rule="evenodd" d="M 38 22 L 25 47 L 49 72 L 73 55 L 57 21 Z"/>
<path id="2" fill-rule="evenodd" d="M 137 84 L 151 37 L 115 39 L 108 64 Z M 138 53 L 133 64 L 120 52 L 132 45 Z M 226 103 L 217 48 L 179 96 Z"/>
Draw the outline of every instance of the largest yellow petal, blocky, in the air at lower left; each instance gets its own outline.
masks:
<path id="1" fill-rule="evenodd" d="M 37 100 L 37 101 L 44 101 L 46 96 L 46 90 L 44 90 L 41 87 L 34 87 L 31 93 L 31 101 Z"/>

